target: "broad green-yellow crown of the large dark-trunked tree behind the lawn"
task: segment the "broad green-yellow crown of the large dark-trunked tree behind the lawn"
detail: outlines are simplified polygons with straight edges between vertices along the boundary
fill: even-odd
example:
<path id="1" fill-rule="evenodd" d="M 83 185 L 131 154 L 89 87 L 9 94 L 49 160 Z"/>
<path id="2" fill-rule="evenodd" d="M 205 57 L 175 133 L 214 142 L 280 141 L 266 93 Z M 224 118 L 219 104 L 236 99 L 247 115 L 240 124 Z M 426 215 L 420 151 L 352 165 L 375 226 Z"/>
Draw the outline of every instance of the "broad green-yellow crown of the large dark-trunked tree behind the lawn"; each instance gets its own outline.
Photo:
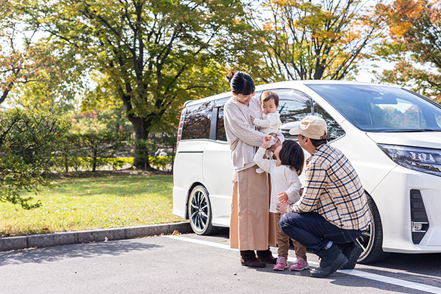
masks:
<path id="1" fill-rule="evenodd" d="M 220 68 L 247 47 L 229 38 L 246 35 L 237 0 L 29 0 L 21 10 L 106 77 L 96 88 L 121 99 L 136 140 L 174 132 L 183 101 L 226 90 Z"/>

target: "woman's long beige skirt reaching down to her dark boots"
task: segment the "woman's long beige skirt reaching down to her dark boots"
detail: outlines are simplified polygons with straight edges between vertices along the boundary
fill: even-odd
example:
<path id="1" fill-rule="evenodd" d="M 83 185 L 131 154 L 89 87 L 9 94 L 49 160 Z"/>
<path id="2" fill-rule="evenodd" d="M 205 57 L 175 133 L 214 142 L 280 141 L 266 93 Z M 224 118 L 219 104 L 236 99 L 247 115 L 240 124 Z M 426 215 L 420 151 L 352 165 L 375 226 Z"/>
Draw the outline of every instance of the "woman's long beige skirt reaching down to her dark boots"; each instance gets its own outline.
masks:
<path id="1" fill-rule="evenodd" d="M 229 246 L 240 251 L 276 246 L 276 216 L 269 212 L 269 176 L 257 174 L 257 168 L 239 171 L 233 186 Z"/>

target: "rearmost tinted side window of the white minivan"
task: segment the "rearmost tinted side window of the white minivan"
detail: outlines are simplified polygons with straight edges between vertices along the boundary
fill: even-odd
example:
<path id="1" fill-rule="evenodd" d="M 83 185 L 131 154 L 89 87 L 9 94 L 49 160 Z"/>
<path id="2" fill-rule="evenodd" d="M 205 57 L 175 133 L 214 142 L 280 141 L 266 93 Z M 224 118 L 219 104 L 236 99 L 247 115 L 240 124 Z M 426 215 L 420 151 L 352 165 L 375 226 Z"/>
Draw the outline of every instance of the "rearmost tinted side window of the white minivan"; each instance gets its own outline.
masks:
<path id="1" fill-rule="evenodd" d="M 210 101 L 185 109 L 181 140 L 209 138 L 213 104 L 214 102 Z"/>

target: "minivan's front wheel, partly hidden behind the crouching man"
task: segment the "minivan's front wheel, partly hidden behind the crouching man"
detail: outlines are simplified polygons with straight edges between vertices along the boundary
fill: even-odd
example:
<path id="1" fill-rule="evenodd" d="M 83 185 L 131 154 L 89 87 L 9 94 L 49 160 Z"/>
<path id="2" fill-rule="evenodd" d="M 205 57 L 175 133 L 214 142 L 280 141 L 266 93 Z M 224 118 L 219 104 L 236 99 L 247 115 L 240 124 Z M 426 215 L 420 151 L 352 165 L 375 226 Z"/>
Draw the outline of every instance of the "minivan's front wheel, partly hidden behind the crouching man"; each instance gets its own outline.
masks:
<path id="1" fill-rule="evenodd" d="M 358 258 L 358 263 L 369 264 L 371 262 L 379 262 L 387 258 L 389 253 L 382 249 L 383 244 L 383 230 L 381 224 L 380 213 L 378 212 L 375 202 L 371 196 L 367 196 L 367 204 L 369 205 L 369 212 L 371 213 L 371 224 L 367 231 L 357 238 L 356 242 L 360 244 L 363 252 Z"/>

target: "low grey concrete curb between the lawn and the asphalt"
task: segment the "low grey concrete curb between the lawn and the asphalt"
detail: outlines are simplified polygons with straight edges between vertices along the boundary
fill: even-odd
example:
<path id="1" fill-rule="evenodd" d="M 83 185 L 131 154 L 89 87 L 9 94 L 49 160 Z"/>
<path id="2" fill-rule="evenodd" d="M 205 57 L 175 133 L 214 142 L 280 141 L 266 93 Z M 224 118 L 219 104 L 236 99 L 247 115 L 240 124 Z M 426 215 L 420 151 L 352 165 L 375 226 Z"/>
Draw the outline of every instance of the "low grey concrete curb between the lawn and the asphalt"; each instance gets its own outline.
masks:
<path id="1" fill-rule="evenodd" d="M 41 235 L 0 238 L 0 251 L 26 249 L 32 247 L 47 247 L 87 242 L 102 242 L 107 240 L 123 240 L 162 233 L 192 232 L 189 222 L 172 222 L 170 224 L 152 224 L 148 226 L 123 227 L 115 229 L 98 229 L 88 231 L 73 231 Z"/>

